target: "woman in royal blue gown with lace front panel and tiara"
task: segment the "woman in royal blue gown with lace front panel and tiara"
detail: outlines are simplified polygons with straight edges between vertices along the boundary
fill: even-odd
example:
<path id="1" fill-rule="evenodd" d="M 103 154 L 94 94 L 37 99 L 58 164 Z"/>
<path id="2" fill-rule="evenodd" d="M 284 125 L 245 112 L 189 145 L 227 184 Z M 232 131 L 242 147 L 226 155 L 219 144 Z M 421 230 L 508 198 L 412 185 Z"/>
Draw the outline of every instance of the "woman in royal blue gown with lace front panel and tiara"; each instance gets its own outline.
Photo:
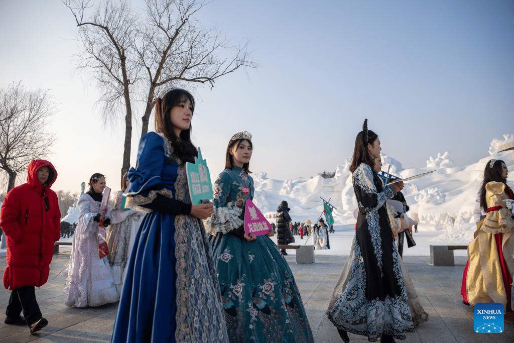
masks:
<path id="1" fill-rule="evenodd" d="M 128 172 L 129 206 L 147 213 L 136 235 L 112 342 L 227 342 L 219 287 L 202 219 L 212 204 L 191 205 L 185 162 L 194 99 L 164 89 L 155 104 L 156 132 L 141 137 Z"/>

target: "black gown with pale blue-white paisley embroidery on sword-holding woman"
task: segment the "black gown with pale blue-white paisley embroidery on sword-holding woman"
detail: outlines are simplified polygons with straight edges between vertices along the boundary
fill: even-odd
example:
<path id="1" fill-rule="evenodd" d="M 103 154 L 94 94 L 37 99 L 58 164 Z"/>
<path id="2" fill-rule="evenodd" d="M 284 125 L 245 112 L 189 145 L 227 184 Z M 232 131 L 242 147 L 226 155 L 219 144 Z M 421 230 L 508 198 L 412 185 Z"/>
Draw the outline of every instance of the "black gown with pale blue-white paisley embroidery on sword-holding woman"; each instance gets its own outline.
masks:
<path id="1" fill-rule="evenodd" d="M 377 341 L 384 334 L 405 339 L 405 332 L 414 331 L 414 327 L 398 252 L 384 207 L 393 191 L 389 187 L 379 191 L 382 184 L 375 176 L 366 164 L 359 165 L 354 171 L 359 215 L 351 263 L 343 268 L 349 275 L 341 275 L 346 281 L 338 284 L 334 291 L 335 295 L 336 291 L 341 295 L 331 300 L 326 314 L 338 329 L 368 336 L 369 341 Z M 366 270 L 371 271 L 369 275 Z M 380 286 L 386 283 L 390 286 Z"/>

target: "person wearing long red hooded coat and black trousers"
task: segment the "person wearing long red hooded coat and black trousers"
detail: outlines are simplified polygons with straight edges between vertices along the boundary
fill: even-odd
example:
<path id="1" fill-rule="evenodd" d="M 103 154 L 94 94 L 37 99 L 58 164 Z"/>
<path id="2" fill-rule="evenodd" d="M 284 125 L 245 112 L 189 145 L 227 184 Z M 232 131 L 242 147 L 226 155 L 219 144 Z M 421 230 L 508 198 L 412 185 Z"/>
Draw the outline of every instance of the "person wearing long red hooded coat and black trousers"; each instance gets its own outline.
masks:
<path id="1" fill-rule="evenodd" d="M 61 237 L 61 211 L 50 186 L 57 171 L 49 161 L 34 159 L 27 183 L 7 193 L 0 212 L 0 226 L 7 242 L 4 286 L 11 290 L 5 323 L 28 325 L 30 333 L 48 324 L 35 299 L 35 288 L 48 280 L 54 242 Z M 20 316 L 23 311 L 24 317 Z"/>

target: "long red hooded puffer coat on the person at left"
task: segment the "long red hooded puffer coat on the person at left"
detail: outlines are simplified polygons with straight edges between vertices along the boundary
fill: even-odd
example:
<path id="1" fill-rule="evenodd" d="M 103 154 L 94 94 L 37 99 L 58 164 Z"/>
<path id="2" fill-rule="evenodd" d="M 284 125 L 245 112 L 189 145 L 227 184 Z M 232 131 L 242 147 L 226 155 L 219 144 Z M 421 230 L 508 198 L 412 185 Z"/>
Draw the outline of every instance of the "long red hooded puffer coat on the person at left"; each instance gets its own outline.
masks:
<path id="1" fill-rule="evenodd" d="M 38 178 L 43 167 L 50 168 L 45 185 Z M 9 290 L 40 287 L 48 280 L 54 242 L 61 237 L 59 202 L 50 189 L 56 179 L 57 171 L 49 161 L 34 159 L 28 166 L 27 183 L 11 189 L 2 204 L 0 227 L 7 243 L 4 286 Z"/>

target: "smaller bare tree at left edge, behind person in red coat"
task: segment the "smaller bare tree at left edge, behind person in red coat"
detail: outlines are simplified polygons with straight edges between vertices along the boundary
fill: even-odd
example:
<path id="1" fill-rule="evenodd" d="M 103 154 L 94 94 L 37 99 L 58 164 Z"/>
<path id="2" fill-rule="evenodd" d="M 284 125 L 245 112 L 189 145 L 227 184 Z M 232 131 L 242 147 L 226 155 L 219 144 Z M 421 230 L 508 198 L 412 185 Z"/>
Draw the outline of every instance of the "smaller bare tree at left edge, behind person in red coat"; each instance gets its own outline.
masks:
<path id="1" fill-rule="evenodd" d="M 0 88 L 0 170 L 7 173 L 7 192 L 31 160 L 49 153 L 54 138 L 45 127 L 56 112 L 56 104 L 44 89 L 29 91 L 21 82 Z"/>

